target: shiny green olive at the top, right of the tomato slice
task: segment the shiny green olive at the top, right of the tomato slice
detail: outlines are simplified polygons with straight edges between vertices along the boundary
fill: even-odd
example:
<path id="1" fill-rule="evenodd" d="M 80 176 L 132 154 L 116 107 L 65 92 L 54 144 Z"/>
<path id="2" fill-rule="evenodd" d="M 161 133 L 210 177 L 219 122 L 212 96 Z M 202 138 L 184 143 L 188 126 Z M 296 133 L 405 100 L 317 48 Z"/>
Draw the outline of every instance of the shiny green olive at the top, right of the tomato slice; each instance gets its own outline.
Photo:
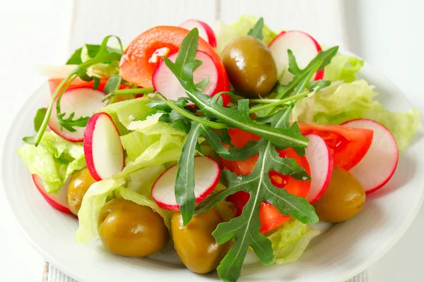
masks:
<path id="1" fill-rule="evenodd" d="M 225 45 L 221 54 L 235 90 L 247 98 L 269 94 L 277 82 L 277 66 L 271 51 L 252 36 L 242 36 Z"/>

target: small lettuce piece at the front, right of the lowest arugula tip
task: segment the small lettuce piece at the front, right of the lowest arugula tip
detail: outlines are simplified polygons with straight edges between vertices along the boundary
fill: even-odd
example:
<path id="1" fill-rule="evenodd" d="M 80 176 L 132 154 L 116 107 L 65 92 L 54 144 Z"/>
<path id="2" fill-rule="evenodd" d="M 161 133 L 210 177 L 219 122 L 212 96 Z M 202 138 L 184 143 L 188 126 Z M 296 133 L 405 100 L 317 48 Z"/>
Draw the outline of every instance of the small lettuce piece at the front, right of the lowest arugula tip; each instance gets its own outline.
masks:
<path id="1" fill-rule="evenodd" d="M 296 219 L 290 219 L 268 236 L 272 243 L 276 264 L 290 264 L 305 252 L 310 241 L 321 232 Z"/>

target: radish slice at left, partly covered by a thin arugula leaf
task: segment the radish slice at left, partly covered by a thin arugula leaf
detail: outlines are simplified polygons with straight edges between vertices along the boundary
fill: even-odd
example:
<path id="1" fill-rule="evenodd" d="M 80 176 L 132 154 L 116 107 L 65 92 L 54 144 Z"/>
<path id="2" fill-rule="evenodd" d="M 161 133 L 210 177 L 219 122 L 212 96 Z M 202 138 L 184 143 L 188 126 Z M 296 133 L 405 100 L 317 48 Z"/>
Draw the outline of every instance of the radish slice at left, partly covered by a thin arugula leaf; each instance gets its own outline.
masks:
<path id="1" fill-rule="evenodd" d="M 80 118 L 81 116 L 91 116 L 107 105 L 107 101 L 102 102 L 104 97 L 104 92 L 93 90 L 93 88 L 89 87 L 67 90 L 61 98 L 61 112 L 66 113 L 64 118 L 68 118 L 72 113 L 75 113 L 73 119 Z M 84 130 L 86 128 L 75 127 L 75 132 L 61 128 L 56 114 L 56 103 L 54 103 L 52 116 L 50 116 L 49 120 L 49 128 L 68 141 L 83 142 Z"/>

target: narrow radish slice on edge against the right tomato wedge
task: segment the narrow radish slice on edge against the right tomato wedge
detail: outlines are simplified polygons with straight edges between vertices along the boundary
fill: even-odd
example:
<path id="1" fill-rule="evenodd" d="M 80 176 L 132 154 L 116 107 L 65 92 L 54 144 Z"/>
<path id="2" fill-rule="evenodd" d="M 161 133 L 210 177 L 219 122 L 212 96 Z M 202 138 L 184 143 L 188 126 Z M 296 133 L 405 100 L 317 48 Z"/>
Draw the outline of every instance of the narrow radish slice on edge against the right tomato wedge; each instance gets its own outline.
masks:
<path id="1" fill-rule="evenodd" d="M 305 137 L 310 140 L 305 150 L 305 157 L 311 170 L 311 188 L 306 199 L 312 204 L 317 202 L 329 187 L 333 174 L 333 155 L 322 137 L 315 134 L 308 134 Z"/>

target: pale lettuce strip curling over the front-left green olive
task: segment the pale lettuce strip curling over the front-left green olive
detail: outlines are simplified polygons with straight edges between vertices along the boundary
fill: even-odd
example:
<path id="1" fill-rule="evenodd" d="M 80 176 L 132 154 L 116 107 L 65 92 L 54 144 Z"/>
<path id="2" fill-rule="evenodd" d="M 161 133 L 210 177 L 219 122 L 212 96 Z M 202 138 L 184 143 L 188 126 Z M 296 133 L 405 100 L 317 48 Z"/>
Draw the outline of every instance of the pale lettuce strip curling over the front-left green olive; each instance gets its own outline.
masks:
<path id="1" fill-rule="evenodd" d="M 147 174 L 148 172 L 150 171 L 145 171 L 144 173 Z M 98 216 L 100 209 L 102 209 L 106 202 L 115 197 L 123 197 L 136 204 L 151 207 L 153 211 L 163 217 L 165 225 L 170 228 L 172 212 L 161 209 L 151 197 L 124 188 L 124 185 L 126 185 L 126 182 L 122 178 L 108 178 L 93 183 L 93 185 L 90 186 L 86 195 L 83 197 L 81 209 L 78 212 L 79 227 L 76 231 L 77 243 L 85 244 L 89 243 L 90 240 L 98 238 Z"/>

